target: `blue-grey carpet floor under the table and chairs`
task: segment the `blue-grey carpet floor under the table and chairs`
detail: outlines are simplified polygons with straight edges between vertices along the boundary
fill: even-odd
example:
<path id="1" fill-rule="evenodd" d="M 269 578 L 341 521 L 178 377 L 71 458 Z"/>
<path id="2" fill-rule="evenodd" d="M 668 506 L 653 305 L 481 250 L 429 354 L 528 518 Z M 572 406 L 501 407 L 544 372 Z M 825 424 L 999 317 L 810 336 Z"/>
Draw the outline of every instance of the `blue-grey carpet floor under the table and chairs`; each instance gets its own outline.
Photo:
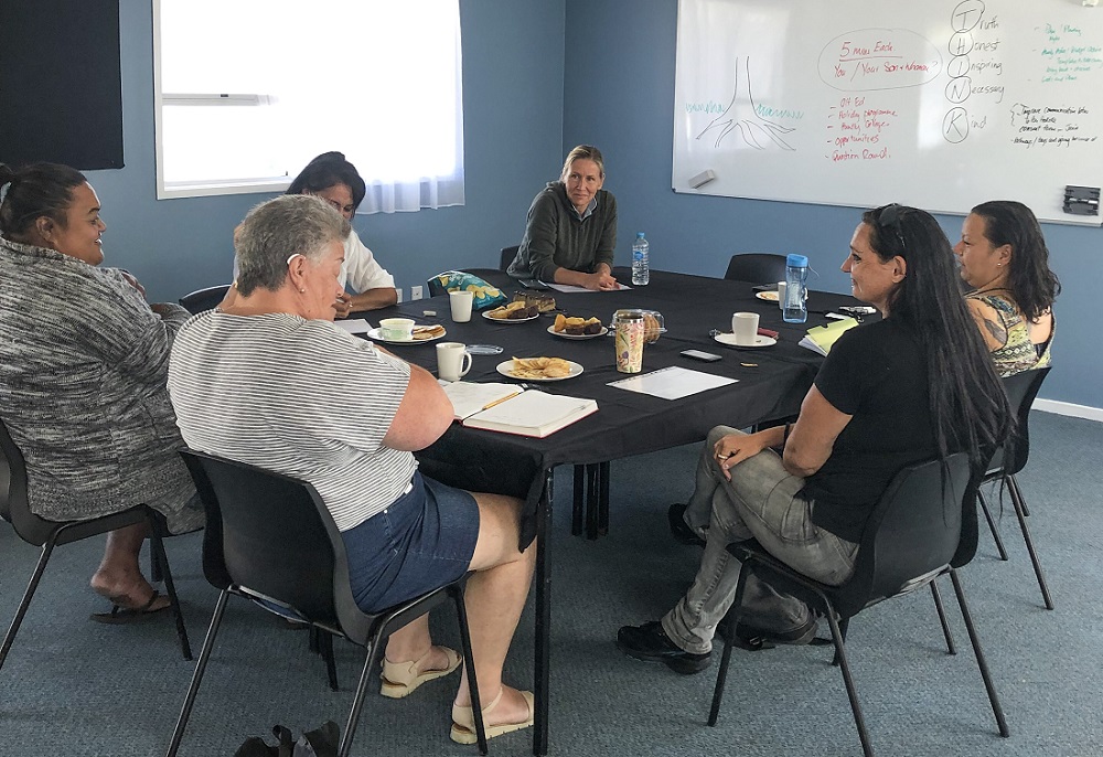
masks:
<path id="1" fill-rule="evenodd" d="M 1030 527 L 1057 609 L 1047 611 L 1009 503 L 1002 532 L 1009 562 L 982 534 L 962 572 L 982 642 L 1011 728 L 1004 739 L 968 647 L 949 583 L 943 596 L 959 654 L 943 647 L 929 593 L 886 603 L 856 618 L 847 649 L 879 755 L 1019 757 L 1103 754 L 1103 424 L 1036 413 L 1031 461 L 1020 483 Z M 553 754 L 856 755 L 860 747 L 842 676 L 826 648 L 737 651 L 716 728 L 705 724 L 715 665 L 681 676 L 629 660 L 617 628 L 657 618 L 685 589 L 697 552 L 674 544 L 665 509 L 692 487 L 696 448 L 618 461 L 612 468 L 610 534 L 597 542 L 568 533 L 570 481 L 550 540 L 553 573 Z M 195 652 L 216 598 L 200 569 L 197 535 L 170 540 Z M 183 661 L 169 618 L 111 627 L 90 622 L 105 609 L 87 579 L 103 541 L 60 547 L 11 655 L 0 670 L 0 751 L 53 755 L 161 755 L 193 665 Z M 0 525 L 0 622 L 14 612 L 36 550 Z M 438 617 L 439 616 L 439 617 Z M 454 643 L 449 610 L 432 619 Z M 824 629 L 826 630 L 826 629 Z M 507 662 L 511 683 L 532 685 L 533 623 L 522 619 Z M 343 726 L 362 664 L 339 642 L 340 692 L 307 650 L 306 635 L 232 599 L 181 755 L 229 757 L 275 723 L 296 732 L 334 719 Z M 454 679 L 403 701 L 373 693 L 356 755 L 473 755 L 448 739 Z M 524 755 L 529 732 L 494 739 L 491 753 Z"/>

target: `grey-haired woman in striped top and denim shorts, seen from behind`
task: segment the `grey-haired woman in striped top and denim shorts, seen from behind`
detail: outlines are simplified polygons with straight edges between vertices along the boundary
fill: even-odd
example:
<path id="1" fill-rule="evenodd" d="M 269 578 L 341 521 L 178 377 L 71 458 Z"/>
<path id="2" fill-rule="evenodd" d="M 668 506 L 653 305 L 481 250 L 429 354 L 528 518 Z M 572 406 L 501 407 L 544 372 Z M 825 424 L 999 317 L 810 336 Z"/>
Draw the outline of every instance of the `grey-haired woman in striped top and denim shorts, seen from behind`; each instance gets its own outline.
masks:
<path id="1" fill-rule="evenodd" d="M 309 481 L 345 544 L 356 604 L 377 612 L 468 571 L 488 736 L 533 723 L 533 695 L 502 683 L 536 547 L 518 550 L 521 502 L 421 476 L 413 452 L 452 425 L 428 371 L 335 327 L 349 222 L 320 198 L 285 195 L 246 216 L 238 298 L 195 316 L 173 345 L 169 392 L 184 440 Z M 454 671 L 427 618 L 387 642 L 381 692 L 407 696 Z M 465 673 L 451 737 L 473 744 Z"/>

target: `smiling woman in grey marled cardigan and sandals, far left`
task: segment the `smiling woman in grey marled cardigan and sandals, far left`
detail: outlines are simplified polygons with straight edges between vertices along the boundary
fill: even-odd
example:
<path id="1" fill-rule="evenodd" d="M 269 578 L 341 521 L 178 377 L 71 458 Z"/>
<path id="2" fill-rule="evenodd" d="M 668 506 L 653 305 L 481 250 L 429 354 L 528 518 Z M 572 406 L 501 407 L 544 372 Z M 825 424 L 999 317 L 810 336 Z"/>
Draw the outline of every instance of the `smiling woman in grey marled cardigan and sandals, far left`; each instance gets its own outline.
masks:
<path id="1" fill-rule="evenodd" d="M 26 460 L 31 511 L 82 520 L 139 503 L 202 527 L 165 378 L 176 305 L 147 305 L 104 259 L 99 199 L 66 166 L 0 164 L 0 417 Z M 146 524 L 111 532 L 92 587 L 118 622 L 164 609 L 141 574 Z"/>

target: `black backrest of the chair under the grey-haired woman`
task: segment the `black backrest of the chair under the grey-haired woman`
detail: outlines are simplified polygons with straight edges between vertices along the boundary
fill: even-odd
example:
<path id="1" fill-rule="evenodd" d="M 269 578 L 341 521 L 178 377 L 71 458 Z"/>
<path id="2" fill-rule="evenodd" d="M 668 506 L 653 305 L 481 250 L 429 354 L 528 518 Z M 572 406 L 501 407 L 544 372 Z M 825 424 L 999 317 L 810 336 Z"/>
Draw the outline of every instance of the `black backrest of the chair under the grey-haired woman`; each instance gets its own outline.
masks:
<path id="1" fill-rule="evenodd" d="M 182 450 L 207 515 L 203 572 L 216 588 L 288 605 L 363 638 L 344 542 L 312 486 L 255 466 Z"/>

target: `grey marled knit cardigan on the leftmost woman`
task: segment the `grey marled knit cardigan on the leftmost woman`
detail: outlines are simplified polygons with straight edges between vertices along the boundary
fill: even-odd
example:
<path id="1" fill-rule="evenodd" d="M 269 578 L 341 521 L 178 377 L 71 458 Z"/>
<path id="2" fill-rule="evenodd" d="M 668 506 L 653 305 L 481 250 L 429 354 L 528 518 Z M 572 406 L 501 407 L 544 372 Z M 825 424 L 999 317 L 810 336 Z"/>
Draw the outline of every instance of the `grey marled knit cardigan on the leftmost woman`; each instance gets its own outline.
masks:
<path id="1" fill-rule="evenodd" d="M 85 520 L 146 503 L 203 525 L 165 380 L 188 311 L 158 316 L 118 268 L 0 238 L 0 418 L 31 511 Z"/>

